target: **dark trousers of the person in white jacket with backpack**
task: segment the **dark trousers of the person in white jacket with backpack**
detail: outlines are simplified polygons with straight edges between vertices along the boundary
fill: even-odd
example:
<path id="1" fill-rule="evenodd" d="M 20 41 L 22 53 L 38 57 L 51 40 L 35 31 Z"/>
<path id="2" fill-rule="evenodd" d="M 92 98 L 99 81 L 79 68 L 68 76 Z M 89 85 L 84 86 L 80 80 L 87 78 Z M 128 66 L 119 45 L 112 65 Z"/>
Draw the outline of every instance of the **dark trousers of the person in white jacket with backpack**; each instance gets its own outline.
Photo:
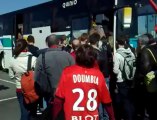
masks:
<path id="1" fill-rule="evenodd" d="M 116 120 L 135 120 L 135 110 L 133 102 L 133 89 L 131 82 L 117 83 L 117 93 L 115 94 Z"/>

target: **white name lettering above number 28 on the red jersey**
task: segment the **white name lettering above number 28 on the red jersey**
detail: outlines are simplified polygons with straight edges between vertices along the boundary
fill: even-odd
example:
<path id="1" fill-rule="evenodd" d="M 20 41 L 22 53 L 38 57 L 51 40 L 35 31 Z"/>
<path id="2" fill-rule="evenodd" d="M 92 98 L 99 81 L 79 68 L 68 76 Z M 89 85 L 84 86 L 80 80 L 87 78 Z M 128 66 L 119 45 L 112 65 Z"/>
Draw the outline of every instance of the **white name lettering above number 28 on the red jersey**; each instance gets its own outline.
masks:
<path id="1" fill-rule="evenodd" d="M 99 78 L 98 78 L 98 76 L 94 76 L 94 75 L 74 74 L 73 82 L 74 83 L 92 83 L 92 84 L 98 85 Z"/>

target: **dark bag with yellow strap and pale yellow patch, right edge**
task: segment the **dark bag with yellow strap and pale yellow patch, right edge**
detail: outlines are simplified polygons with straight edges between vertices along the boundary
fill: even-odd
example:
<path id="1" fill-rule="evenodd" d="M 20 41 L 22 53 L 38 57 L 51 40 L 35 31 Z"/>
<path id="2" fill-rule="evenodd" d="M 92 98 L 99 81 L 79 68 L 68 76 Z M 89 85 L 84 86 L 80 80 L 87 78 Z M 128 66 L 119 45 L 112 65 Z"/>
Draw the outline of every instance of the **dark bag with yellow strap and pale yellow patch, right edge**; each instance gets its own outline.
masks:
<path id="1" fill-rule="evenodd" d="M 157 67 L 157 60 L 156 60 L 153 52 L 149 48 L 147 48 L 147 50 L 149 51 L 150 55 L 152 56 L 153 60 L 155 61 L 156 67 Z M 157 77 L 153 70 L 146 74 L 144 82 L 145 82 L 146 89 L 148 92 L 150 92 L 150 93 L 157 92 Z"/>

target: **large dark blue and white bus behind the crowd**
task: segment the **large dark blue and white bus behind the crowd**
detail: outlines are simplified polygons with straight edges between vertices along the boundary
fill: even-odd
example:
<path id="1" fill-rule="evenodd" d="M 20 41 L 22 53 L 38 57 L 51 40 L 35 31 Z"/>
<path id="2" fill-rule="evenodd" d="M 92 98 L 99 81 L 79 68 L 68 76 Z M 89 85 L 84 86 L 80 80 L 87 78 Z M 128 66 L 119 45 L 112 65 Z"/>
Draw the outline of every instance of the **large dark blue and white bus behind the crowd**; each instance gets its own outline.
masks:
<path id="1" fill-rule="evenodd" d="M 143 2 L 145 1 L 145 2 Z M 18 34 L 33 35 L 35 45 L 45 48 L 50 34 L 68 39 L 87 33 L 94 24 L 116 36 L 138 34 L 138 5 L 146 0 L 52 0 L 0 15 L 0 69 L 7 69 Z M 124 9 L 131 7 L 132 9 Z M 143 6 L 142 6 L 143 7 Z M 129 12 L 128 12 L 129 10 Z"/>

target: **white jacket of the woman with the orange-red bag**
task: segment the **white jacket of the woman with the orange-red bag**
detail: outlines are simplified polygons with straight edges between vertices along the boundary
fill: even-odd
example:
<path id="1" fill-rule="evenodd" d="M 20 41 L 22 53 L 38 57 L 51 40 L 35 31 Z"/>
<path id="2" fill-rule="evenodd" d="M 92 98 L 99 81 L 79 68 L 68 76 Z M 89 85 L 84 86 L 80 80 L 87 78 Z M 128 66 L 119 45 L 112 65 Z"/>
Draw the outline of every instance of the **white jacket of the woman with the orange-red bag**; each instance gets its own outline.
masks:
<path id="1" fill-rule="evenodd" d="M 30 52 L 22 52 L 17 58 L 12 58 L 9 64 L 9 76 L 15 80 L 16 88 L 21 89 L 21 76 L 27 71 Z M 36 57 L 32 56 L 32 67 L 35 67 Z"/>

